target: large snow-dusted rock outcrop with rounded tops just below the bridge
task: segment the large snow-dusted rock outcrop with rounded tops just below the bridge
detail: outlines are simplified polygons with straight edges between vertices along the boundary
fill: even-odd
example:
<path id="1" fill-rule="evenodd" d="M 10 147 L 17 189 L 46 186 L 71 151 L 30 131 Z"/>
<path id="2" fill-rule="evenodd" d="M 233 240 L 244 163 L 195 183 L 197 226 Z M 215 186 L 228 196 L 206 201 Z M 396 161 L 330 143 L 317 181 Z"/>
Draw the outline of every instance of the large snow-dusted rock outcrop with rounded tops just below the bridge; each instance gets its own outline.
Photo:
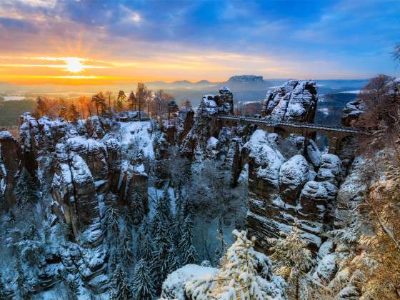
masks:
<path id="1" fill-rule="evenodd" d="M 341 181 L 341 161 L 333 154 L 324 154 L 315 176 L 314 166 L 301 154 L 285 159 L 279 139 L 276 134 L 257 130 L 244 145 L 250 152 L 249 234 L 257 237 L 259 249 L 265 251 L 268 237 L 278 237 L 281 231 L 289 233 L 296 225 L 316 251 L 327 209 Z"/>

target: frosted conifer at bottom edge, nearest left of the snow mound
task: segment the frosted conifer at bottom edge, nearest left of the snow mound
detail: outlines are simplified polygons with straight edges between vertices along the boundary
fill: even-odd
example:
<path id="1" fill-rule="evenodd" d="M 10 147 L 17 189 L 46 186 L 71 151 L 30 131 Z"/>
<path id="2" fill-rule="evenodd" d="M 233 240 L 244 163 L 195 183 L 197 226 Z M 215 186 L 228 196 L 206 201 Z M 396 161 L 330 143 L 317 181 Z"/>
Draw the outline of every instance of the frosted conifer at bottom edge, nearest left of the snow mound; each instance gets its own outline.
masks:
<path id="1" fill-rule="evenodd" d="M 132 286 L 132 294 L 134 297 L 133 299 L 154 299 L 156 289 L 154 288 L 153 278 L 151 276 L 151 269 L 144 259 L 141 259 L 136 265 Z"/>

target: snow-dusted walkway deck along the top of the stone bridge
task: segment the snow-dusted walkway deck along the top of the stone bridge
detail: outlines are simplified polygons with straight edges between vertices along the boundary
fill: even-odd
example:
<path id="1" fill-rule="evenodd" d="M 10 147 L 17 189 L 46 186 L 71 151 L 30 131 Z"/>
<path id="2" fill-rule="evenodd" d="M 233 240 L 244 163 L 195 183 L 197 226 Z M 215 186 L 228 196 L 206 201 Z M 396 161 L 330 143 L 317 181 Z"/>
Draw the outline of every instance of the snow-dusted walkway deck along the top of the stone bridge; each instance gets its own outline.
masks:
<path id="1" fill-rule="evenodd" d="M 324 124 L 314 124 L 314 123 L 311 124 L 311 123 L 294 123 L 294 122 L 274 122 L 265 119 L 251 118 L 245 116 L 218 116 L 217 118 L 220 120 L 241 121 L 247 124 L 261 124 L 264 126 L 271 126 L 271 127 L 289 126 L 300 129 L 339 131 L 339 132 L 346 132 L 349 134 L 368 134 L 368 132 L 359 129 L 343 127 L 343 126 L 334 126 L 334 125 L 324 125 Z"/>

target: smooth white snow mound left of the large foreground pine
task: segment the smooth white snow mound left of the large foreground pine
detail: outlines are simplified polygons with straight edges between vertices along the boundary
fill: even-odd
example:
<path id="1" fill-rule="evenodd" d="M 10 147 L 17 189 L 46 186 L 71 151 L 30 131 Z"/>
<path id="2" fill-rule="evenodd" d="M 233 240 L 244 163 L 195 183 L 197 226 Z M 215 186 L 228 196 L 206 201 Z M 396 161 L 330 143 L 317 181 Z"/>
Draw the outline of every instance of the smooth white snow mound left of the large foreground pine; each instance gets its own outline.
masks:
<path id="1" fill-rule="evenodd" d="M 161 296 L 167 299 L 185 300 L 185 284 L 195 277 L 215 276 L 219 269 L 196 264 L 186 264 L 180 269 L 169 274 L 162 286 L 163 294 Z"/>

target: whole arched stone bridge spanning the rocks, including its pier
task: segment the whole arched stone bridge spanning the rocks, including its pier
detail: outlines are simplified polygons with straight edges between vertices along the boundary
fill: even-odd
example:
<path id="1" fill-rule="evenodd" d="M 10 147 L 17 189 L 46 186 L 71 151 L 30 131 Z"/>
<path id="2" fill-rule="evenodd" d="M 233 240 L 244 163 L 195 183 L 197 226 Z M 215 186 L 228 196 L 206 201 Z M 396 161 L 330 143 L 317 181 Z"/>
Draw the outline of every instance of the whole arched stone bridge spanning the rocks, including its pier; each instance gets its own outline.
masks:
<path id="1" fill-rule="evenodd" d="M 283 136 L 289 134 L 298 134 L 311 138 L 316 132 L 324 134 L 328 138 L 329 153 L 335 154 L 339 147 L 341 139 L 346 136 L 367 135 L 366 131 L 361 131 L 354 128 L 332 126 L 324 124 L 311 123 L 294 123 L 288 121 L 270 121 L 260 118 L 244 117 L 244 116 L 218 116 L 217 120 L 224 126 L 233 126 L 234 124 L 255 124 L 259 129 L 269 132 L 276 132 Z"/>

